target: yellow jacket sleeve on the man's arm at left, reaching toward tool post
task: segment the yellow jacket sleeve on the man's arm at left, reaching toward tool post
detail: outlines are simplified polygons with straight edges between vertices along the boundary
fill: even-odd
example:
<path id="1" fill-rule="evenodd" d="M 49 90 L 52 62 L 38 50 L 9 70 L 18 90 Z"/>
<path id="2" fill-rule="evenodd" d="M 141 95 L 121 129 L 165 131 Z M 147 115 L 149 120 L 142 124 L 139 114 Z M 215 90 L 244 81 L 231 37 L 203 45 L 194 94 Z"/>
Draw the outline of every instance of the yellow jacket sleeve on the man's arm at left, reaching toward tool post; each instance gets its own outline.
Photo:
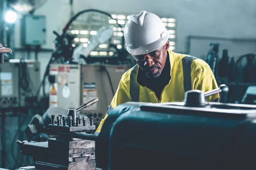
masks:
<path id="1" fill-rule="evenodd" d="M 114 97 L 112 99 L 112 102 L 108 109 L 108 112 L 106 113 L 104 119 L 101 120 L 99 127 L 97 128 L 95 134 L 99 134 L 99 132 L 101 131 L 102 125 L 105 122 L 105 120 L 107 119 L 108 113 L 110 111 L 112 111 L 114 108 L 116 108 L 116 106 L 121 105 L 122 103 L 131 102 L 131 97 L 130 97 L 130 94 L 129 94 L 129 91 L 128 91 L 128 88 L 127 88 L 127 85 L 126 85 L 124 79 L 125 79 L 125 76 L 122 76 L 122 79 L 119 82 L 118 88 L 116 90 L 116 94 L 114 95 Z"/>

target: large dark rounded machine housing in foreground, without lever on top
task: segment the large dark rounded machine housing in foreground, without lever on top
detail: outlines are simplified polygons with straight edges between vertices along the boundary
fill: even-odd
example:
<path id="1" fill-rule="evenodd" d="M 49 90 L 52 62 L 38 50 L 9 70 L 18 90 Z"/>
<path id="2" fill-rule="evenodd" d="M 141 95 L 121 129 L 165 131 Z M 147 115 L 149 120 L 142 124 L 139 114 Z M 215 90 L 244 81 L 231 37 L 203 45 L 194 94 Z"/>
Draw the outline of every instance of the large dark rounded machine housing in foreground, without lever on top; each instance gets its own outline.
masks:
<path id="1" fill-rule="evenodd" d="M 255 105 L 125 103 L 102 126 L 96 163 L 106 170 L 250 169 L 255 131 Z"/>

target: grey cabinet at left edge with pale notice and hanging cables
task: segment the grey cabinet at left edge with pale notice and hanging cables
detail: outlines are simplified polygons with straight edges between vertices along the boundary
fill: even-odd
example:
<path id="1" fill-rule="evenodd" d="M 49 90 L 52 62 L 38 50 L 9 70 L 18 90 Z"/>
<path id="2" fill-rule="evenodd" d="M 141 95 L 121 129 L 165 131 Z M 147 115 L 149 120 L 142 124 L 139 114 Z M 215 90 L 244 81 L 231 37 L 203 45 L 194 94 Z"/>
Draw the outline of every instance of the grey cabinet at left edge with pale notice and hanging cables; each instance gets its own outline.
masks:
<path id="1" fill-rule="evenodd" d="M 0 65 L 0 108 L 23 107 L 37 101 L 40 63 L 35 60 L 9 59 Z"/>

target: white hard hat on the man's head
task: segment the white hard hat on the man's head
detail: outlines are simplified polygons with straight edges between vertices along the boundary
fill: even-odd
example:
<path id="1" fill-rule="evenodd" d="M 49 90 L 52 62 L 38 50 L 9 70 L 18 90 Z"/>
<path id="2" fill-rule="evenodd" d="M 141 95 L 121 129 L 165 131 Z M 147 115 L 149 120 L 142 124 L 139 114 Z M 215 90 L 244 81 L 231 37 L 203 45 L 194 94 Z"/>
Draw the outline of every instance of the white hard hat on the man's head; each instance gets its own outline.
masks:
<path id="1" fill-rule="evenodd" d="M 132 55 L 150 53 L 166 44 L 169 32 L 157 15 L 141 11 L 125 24 L 125 46 Z"/>

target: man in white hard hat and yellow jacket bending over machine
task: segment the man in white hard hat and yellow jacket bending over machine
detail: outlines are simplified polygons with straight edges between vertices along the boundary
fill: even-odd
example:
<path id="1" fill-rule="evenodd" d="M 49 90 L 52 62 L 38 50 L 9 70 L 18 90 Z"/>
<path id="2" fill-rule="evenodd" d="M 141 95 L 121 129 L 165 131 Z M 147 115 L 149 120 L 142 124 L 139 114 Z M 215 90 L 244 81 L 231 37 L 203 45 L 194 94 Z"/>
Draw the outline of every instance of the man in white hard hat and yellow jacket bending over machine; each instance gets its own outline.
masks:
<path id="1" fill-rule="evenodd" d="M 186 91 L 218 88 L 206 62 L 169 49 L 169 33 L 157 15 L 146 11 L 131 15 L 125 24 L 124 36 L 126 49 L 137 65 L 122 75 L 108 113 L 125 102 L 181 102 Z M 218 102 L 219 94 L 206 99 Z"/>

